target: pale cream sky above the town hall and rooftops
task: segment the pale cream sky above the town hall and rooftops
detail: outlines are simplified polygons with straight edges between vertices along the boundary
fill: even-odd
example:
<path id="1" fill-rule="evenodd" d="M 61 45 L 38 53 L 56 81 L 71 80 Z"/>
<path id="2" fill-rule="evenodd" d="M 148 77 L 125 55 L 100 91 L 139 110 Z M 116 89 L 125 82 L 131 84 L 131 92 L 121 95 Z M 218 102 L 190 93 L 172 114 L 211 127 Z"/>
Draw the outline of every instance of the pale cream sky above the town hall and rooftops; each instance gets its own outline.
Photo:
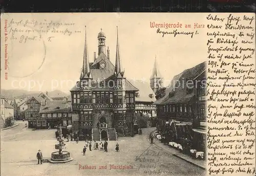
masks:
<path id="1" fill-rule="evenodd" d="M 93 53 L 97 54 L 97 36 L 102 29 L 110 49 L 110 60 L 115 65 L 118 26 L 120 57 L 126 78 L 149 82 L 156 57 L 167 86 L 176 74 L 207 60 L 202 53 L 206 49 L 206 31 L 194 29 L 194 22 L 203 23 L 205 16 L 199 13 L 5 14 L 1 20 L 7 20 L 8 39 L 4 41 L 2 37 L 1 43 L 8 44 L 8 70 L 5 70 L 4 59 L 1 59 L 1 88 L 68 92 L 80 76 L 84 26 L 87 26 L 90 62 L 93 62 Z M 150 27 L 150 22 L 179 23 L 183 28 L 178 30 L 198 30 L 199 34 L 193 38 L 187 35 L 162 37 L 156 32 L 158 28 Z M 185 29 L 185 24 L 191 24 L 192 28 Z M 4 32 L 4 27 L 1 26 L 1 32 Z M 45 32 L 47 29 L 48 33 Z M 71 35 L 67 30 L 72 32 Z M 174 29 L 161 30 L 169 32 Z M 61 31 L 66 31 L 66 34 Z M 1 58 L 5 58 L 4 49 L 1 47 Z M 5 72 L 8 72 L 8 80 Z"/>

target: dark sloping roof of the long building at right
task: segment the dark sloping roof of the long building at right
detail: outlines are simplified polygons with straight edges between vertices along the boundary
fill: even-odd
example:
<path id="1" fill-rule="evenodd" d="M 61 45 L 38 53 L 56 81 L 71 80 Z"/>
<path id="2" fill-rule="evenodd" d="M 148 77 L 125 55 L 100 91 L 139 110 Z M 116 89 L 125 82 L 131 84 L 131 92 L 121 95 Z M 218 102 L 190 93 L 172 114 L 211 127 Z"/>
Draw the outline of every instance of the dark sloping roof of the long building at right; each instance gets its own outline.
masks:
<path id="1" fill-rule="evenodd" d="M 168 103 L 179 103 L 179 102 L 187 102 L 194 96 L 194 92 L 190 94 L 186 93 L 186 85 L 178 86 L 178 82 L 182 84 L 182 81 L 187 79 L 194 80 L 198 77 L 204 70 L 206 69 L 206 62 L 202 62 L 196 65 L 193 68 L 189 68 L 177 74 L 170 84 L 165 89 L 165 95 L 156 100 L 154 104 L 168 104 Z M 169 93 L 173 92 L 173 96 L 169 97 Z"/>

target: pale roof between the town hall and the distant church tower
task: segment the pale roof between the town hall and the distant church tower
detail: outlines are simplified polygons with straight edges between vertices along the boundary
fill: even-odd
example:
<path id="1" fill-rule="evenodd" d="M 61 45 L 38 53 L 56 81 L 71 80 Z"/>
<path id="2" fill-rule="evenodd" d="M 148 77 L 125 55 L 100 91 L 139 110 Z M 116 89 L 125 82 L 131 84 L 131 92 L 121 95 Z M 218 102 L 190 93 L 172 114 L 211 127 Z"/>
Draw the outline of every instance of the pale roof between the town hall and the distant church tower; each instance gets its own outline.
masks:
<path id="1" fill-rule="evenodd" d="M 139 96 L 135 96 L 135 102 L 155 102 L 155 93 L 147 82 L 139 80 L 129 80 L 132 85 L 134 85 L 139 91 L 137 92 Z"/>

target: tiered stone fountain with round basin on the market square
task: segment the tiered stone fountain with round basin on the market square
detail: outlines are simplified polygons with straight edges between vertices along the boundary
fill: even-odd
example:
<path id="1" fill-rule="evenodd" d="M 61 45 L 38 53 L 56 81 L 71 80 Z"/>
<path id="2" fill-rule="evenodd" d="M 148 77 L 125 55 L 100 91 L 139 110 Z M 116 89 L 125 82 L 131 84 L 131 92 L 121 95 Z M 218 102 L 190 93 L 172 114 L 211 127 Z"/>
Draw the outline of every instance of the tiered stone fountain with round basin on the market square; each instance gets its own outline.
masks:
<path id="1" fill-rule="evenodd" d="M 62 151 L 62 149 L 66 148 L 66 144 L 63 140 L 61 124 L 59 125 L 59 136 L 57 137 L 58 144 L 55 145 L 55 149 L 58 149 L 58 152 L 53 152 L 52 157 L 49 160 L 50 163 L 67 163 L 72 161 L 73 158 L 70 157 L 70 153 L 67 151 Z"/>

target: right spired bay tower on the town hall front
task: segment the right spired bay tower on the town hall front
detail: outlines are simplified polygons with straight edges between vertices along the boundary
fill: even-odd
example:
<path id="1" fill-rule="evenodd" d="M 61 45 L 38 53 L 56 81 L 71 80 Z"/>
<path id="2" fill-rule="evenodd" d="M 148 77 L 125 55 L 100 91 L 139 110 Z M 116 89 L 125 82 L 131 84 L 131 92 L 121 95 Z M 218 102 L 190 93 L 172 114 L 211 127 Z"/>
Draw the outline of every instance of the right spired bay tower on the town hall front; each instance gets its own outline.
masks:
<path id="1" fill-rule="evenodd" d="M 115 64 L 115 78 L 114 80 L 114 114 L 115 120 L 126 119 L 126 98 L 125 98 L 125 76 L 122 68 L 120 54 L 119 54 L 119 43 L 118 43 L 118 28 L 117 28 L 117 44 L 116 44 L 116 64 Z M 124 125 L 124 124 L 123 124 Z"/>

